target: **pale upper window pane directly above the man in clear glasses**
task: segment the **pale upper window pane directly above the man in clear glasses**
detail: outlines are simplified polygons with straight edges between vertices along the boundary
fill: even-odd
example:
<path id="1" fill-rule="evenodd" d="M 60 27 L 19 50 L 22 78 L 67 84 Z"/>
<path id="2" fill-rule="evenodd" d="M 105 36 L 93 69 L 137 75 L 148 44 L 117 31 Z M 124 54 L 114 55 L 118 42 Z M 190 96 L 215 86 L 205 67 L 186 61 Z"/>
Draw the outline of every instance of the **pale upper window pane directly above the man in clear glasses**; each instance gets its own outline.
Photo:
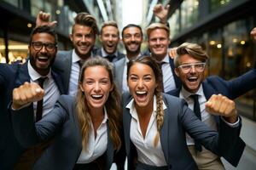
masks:
<path id="1" fill-rule="evenodd" d="M 193 26 L 198 20 L 198 0 L 185 0 L 181 4 L 181 28 Z"/>

